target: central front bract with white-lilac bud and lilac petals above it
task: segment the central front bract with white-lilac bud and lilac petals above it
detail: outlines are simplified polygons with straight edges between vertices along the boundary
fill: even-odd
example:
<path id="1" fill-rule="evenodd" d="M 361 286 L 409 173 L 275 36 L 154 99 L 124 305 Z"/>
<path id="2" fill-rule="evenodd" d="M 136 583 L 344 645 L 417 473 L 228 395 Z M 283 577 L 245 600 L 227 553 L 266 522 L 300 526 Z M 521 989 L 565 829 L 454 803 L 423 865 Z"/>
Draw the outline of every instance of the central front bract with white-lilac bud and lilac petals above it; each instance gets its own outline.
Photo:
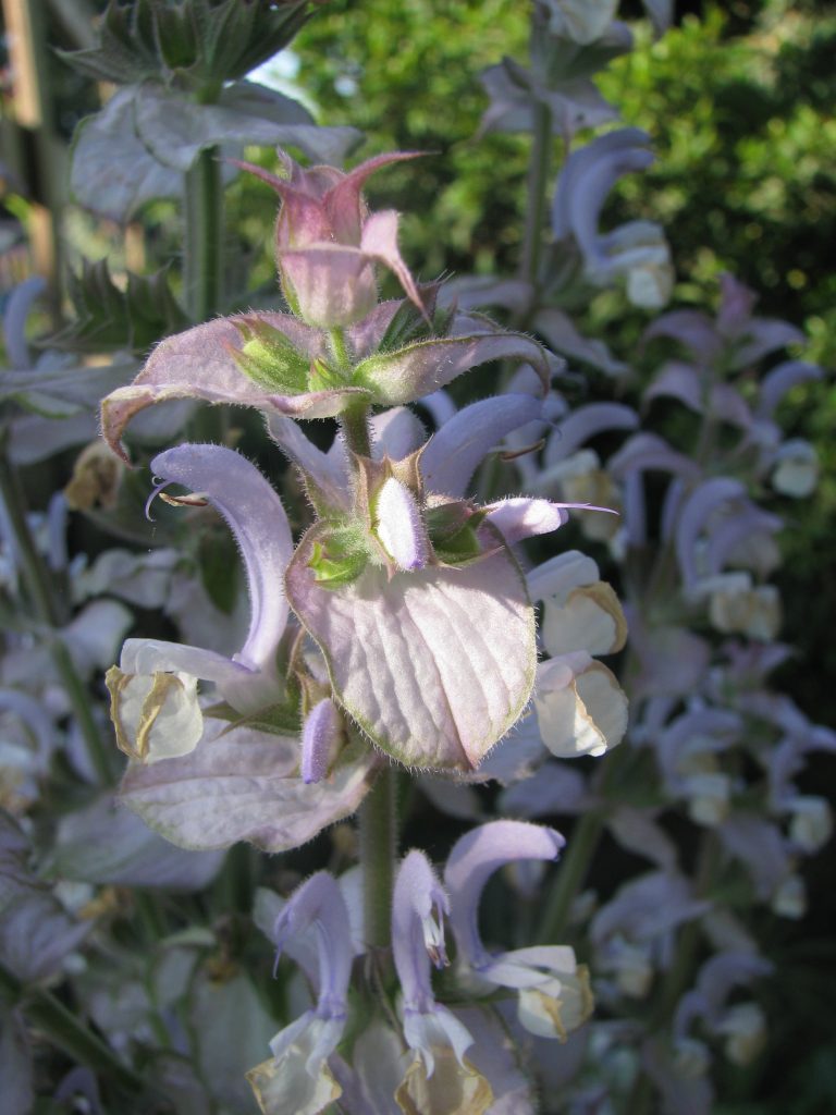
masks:
<path id="1" fill-rule="evenodd" d="M 529 699 L 534 612 L 511 547 L 558 529 L 566 510 L 524 497 L 480 507 L 465 491 L 497 436 L 537 409 L 525 396 L 484 400 L 427 444 L 406 411 L 378 416 L 353 493 L 339 445 L 324 455 L 271 424 L 323 502 L 288 568 L 291 607 L 340 706 L 402 763 L 473 769 Z"/>

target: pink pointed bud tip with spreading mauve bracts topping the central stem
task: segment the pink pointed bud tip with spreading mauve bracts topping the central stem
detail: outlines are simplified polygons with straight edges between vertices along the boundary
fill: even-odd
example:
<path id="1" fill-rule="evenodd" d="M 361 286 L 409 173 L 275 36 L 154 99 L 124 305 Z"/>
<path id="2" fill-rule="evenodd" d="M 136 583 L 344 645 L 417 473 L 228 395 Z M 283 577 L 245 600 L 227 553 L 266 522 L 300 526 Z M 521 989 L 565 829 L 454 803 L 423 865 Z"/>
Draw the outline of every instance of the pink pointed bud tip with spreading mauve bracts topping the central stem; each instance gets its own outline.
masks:
<path id="1" fill-rule="evenodd" d="M 419 290 L 398 252 L 397 214 L 368 215 L 363 182 L 404 157 L 381 156 L 347 175 L 327 166 L 303 171 L 283 156 L 288 180 L 268 178 L 283 200 L 276 255 L 292 312 L 218 318 L 164 340 L 134 382 L 101 405 L 111 448 L 124 456 L 119 438 L 130 418 L 166 399 L 323 418 L 409 403 L 504 359 L 529 361 L 545 390 L 555 357 L 479 314 L 436 312 L 436 289 Z M 405 301 L 378 303 L 376 263 L 395 272 Z"/>

